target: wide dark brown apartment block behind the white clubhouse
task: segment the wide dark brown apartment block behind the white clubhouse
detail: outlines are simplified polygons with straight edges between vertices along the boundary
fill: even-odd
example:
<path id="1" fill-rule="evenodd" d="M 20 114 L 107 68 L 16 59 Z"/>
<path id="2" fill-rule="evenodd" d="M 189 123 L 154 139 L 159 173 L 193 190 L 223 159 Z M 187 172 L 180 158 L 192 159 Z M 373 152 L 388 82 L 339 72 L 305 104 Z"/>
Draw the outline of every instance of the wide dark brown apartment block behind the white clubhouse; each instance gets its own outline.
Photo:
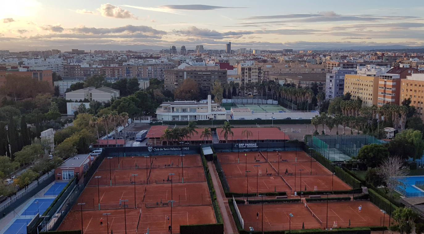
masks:
<path id="1" fill-rule="evenodd" d="M 227 81 L 227 70 L 218 66 L 186 66 L 183 69 L 165 70 L 165 89 L 175 90 L 185 79 L 193 79 L 204 94 L 210 94 L 211 86 L 218 80 Z"/>

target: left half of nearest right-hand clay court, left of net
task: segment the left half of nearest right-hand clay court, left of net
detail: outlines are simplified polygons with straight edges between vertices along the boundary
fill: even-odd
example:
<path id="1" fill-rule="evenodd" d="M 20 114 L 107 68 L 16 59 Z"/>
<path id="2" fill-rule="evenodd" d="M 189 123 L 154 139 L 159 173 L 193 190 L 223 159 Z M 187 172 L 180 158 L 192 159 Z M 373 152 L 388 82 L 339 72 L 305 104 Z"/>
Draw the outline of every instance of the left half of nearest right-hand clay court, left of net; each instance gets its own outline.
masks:
<path id="1" fill-rule="evenodd" d="M 244 229 L 249 230 L 249 227 L 253 227 L 255 231 L 261 231 L 262 204 L 237 206 L 244 220 Z M 259 212 L 258 219 L 257 212 Z M 289 230 L 290 213 L 294 216 L 291 218 L 291 229 L 302 229 L 302 222 L 305 229 L 321 227 L 303 203 L 273 203 L 263 205 L 264 231 Z"/>

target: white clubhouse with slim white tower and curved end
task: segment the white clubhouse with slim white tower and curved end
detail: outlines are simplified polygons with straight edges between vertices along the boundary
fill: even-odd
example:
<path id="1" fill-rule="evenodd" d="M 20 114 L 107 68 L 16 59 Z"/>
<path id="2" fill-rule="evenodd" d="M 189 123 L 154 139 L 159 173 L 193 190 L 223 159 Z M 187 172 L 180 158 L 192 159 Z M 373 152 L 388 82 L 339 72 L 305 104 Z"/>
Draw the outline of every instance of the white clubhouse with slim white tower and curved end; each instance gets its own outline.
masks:
<path id="1" fill-rule="evenodd" d="M 225 120 L 226 111 L 208 95 L 203 101 L 164 102 L 156 109 L 156 118 L 165 121 Z"/>

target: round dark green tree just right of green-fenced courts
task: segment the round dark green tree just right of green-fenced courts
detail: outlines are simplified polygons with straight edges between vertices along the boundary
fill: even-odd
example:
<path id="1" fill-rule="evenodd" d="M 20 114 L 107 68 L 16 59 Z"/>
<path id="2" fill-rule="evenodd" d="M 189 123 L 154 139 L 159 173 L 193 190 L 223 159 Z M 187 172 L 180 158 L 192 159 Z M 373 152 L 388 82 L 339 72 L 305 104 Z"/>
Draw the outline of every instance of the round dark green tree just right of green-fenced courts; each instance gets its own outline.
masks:
<path id="1" fill-rule="evenodd" d="M 367 167 L 377 167 L 383 160 L 388 159 L 389 151 L 385 145 L 364 145 L 358 152 L 357 160 L 363 162 Z"/>

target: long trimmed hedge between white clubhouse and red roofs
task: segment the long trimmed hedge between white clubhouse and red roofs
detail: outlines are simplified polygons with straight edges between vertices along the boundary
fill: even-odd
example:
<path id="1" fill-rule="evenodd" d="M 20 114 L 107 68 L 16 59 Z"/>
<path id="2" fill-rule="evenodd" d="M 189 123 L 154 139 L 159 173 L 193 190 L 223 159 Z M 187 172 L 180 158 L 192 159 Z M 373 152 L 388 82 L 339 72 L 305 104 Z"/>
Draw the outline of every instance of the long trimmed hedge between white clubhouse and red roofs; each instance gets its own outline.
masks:
<path id="1" fill-rule="evenodd" d="M 223 125 L 227 120 L 214 120 L 214 125 Z M 189 121 L 166 121 L 163 123 L 166 125 L 188 125 Z M 212 120 L 196 120 L 197 125 L 212 125 Z M 229 120 L 231 125 L 254 125 L 254 124 L 310 124 L 311 120 Z M 162 125 L 162 122 L 150 123 L 150 125 Z"/>

